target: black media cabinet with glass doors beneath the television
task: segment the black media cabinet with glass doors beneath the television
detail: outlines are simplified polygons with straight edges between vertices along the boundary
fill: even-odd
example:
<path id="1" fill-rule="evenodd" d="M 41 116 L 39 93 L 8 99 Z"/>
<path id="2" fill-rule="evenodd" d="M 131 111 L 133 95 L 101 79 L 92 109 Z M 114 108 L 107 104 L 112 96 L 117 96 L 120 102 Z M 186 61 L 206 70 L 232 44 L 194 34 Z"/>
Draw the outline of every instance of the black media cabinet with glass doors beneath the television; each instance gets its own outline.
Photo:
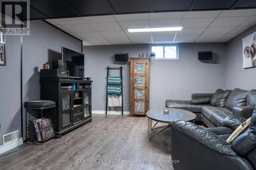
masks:
<path id="1" fill-rule="evenodd" d="M 41 100 L 55 101 L 56 136 L 92 121 L 92 82 L 89 80 L 40 79 Z"/>

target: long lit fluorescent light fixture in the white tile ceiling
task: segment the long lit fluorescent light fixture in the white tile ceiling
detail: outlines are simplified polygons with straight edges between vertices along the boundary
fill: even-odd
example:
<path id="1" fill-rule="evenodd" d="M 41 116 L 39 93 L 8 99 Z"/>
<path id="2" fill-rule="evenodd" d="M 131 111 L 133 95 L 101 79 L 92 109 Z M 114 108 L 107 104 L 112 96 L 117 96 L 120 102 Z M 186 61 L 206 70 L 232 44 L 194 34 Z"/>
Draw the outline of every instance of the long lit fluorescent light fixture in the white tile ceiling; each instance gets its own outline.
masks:
<path id="1" fill-rule="evenodd" d="M 155 27 L 155 28 L 133 28 L 127 29 L 129 33 L 138 33 L 138 32 L 160 32 L 160 31 L 181 31 L 182 27 Z"/>

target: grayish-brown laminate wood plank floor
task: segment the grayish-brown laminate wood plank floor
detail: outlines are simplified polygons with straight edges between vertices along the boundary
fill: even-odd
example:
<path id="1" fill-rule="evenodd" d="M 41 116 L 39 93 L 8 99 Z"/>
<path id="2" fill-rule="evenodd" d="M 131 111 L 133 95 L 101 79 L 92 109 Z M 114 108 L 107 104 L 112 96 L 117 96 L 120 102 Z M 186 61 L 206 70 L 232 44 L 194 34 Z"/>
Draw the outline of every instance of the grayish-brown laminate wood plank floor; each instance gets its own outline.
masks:
<path id="1" fill-rule="evenodd" d="M 173 169 L 158 163 L 171 159 L 170 129 L 148 140 L 146 117 L 94 114 L 60 139 L 1 157 L 0 169 Z"/>

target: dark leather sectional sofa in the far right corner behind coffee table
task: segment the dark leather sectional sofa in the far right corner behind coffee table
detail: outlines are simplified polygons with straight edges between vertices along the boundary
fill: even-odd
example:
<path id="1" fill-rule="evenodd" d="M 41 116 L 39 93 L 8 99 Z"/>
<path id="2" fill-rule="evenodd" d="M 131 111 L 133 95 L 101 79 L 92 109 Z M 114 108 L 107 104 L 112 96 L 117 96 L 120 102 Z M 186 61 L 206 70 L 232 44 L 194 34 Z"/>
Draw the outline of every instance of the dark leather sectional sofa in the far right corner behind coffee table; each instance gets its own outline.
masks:
<path id="1" fill-rule="evenodd" d="M 166 100 L 166 108 L 178 108 L 194 112 L 196 121 L 207 127 L 220 127 L 230 115 L 248 118 L 256 104 L 256 90 L 218 89 L 215 93 L 194 93 L 190 101 Z"/>

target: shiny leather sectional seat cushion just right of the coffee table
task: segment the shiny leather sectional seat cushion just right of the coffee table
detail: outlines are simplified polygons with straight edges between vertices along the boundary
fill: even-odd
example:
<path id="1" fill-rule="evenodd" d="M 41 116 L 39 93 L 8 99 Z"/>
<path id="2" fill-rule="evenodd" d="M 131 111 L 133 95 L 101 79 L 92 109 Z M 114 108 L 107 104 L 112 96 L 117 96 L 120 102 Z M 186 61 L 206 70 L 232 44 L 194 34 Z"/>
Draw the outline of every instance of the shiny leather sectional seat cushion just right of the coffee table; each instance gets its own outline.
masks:
<path id="1" fill-rule="evenodd" d="M 217 127 L 222 125 L 222 121 L 227 116 L 232 115 L 232 111 L 226 107 L 202 106 L 201 112 Z"/>

